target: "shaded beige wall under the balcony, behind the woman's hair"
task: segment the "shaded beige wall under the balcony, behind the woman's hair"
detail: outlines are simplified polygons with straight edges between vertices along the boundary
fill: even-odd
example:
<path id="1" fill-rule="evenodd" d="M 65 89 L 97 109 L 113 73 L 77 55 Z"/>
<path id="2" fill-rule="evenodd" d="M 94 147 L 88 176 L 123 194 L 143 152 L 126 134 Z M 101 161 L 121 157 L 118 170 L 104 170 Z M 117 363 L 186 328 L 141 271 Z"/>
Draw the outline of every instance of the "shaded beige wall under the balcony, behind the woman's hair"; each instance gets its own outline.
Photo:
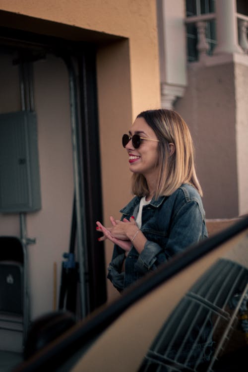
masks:
<path id="1" fill-rule="evenodd" d="M 188 65 L 188 85 L 175 109 L 188 124 L 207 218 L 239 215 L 234 63 Z"/>

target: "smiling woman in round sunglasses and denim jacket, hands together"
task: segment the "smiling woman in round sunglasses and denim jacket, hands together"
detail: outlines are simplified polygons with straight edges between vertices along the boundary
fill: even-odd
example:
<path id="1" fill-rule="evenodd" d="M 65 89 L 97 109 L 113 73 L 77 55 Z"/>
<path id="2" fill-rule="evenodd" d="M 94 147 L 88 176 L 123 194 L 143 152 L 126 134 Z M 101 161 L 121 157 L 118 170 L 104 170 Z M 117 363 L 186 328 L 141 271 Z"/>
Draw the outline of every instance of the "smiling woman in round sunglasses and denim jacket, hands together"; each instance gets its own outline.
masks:
<path id="1" fill-rule="evenodd" d="M 99 241 L 115 244 L 108 278 L 120 292 L 207 237 L 192 138 L 181 116 L 163 109 L 140 113 L 123 146 L 135 197 L 121 220 L 110 217 L 111 227 L 97 221 Z"/>

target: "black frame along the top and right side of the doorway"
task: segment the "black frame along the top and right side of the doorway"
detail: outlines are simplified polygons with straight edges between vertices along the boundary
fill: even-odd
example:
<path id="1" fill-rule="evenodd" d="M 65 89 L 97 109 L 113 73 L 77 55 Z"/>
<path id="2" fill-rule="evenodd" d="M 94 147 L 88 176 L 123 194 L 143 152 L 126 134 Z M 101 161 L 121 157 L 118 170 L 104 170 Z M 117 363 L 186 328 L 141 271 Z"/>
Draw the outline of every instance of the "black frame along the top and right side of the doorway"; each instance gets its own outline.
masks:
<path id="1" fill-rule="evenodd" d="M 18 18 L 18 22 L 20 20 L 21 18 Z M 67 67 L 73 68 L 74 72 L 74 108 L 77 118 L 75 125 L 78 145 L 76 182 L 79 187 L 76 201 L 79 204 L 77 210 L 80 211 L 80 224 L 77 224 L 77 231 L 80 231 L 82 236 L 82 247 L 80 247 L 82 251 L 79 251 L 79 255 L 83 256 L 79 287 L 84 287 L 83 294 L 79 290 L 79 296 L 84 297 L 81 299 L 81 315 L 84 316 L 104 304 L 107 299 L 104 248 L 102 243 L 97 242 L 95 234 L 95 221 L 102 219 L 96 81 L 97 42 L 96 40 L 87 42 L 85 39 L 88 38 L 88 33 L 84 37 L 75 37 L 76 30 L 73 27 L 71 29 L 73 38 L 65 39 L 58 36 L 59 26 L 57 29 L 51 28 L 51 30 L 56 29 L 54 32 L 56 36 L 52 36 L 53 34 L 47 35 L 47 28 L 44 28 L 44 34 L 41 33 L 42 21 L 38 22 L 39 33 L 22 30 L 18 22 L 18 29 L 0 27 L 1 53 L 15 49 L 23 63 L 34 63 L 45 59 L 47 54 L 53 54 L 62 58 Z M 18 59 L 15 61 L 15 63 L 19 62 Z M 82 307 L 85 307 L 84 310 Z"/>

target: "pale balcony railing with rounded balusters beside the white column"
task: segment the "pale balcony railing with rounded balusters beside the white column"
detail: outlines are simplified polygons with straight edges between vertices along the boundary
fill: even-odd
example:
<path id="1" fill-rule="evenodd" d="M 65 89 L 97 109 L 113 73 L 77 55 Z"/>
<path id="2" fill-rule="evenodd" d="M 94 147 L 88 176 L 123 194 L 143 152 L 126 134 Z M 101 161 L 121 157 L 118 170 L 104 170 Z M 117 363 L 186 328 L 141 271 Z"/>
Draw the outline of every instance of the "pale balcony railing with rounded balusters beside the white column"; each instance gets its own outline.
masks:
<path id="1" fill-rule="evenodd" d="M 238 38 L 239 45 L 242 48 L 244 54 L 248 54 L 248 16 L 236 13 L 237 23 L 238 23 Z M 209 43 L 209 38 L 206 35 L 207 23 L 210 21 L 216 21 L 215 13 L 201 14 L 197 16 L 186 17 L 185 23 L 194 24 L 197 30 L 197 43 L 196 51 L 198 54 L 198 60 L 202 60 L 206 55 L 209 55 L 211 46 Z M 214 42 L 215 43 L 215 42 Z M 218 44 L 218 40 L 216 40 Z"/>

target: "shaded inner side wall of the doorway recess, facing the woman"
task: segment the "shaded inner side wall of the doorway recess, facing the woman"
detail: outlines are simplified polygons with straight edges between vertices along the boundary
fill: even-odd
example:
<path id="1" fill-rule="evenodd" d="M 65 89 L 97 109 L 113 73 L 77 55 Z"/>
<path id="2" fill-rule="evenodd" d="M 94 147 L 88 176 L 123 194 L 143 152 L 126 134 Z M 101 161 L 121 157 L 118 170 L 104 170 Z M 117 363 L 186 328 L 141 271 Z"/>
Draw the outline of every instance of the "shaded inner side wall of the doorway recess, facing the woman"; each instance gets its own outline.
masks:
<path id="1" fill-rule="evenodd" d="M 98 54 L 102 195 L 106 226 L 110 226 L 111 215 L 120 218 L 119 210 L 131 197 L 127 157 L 121 145 L 122 134 L 132 122 L 128 47 L 126 40 L 103 47 Z M 111 260 L 112 251 L 113 244 L 106 241 L 106 265 Z M 109 300 L 119 296 L 109 280 L 107 288 Z"/>

